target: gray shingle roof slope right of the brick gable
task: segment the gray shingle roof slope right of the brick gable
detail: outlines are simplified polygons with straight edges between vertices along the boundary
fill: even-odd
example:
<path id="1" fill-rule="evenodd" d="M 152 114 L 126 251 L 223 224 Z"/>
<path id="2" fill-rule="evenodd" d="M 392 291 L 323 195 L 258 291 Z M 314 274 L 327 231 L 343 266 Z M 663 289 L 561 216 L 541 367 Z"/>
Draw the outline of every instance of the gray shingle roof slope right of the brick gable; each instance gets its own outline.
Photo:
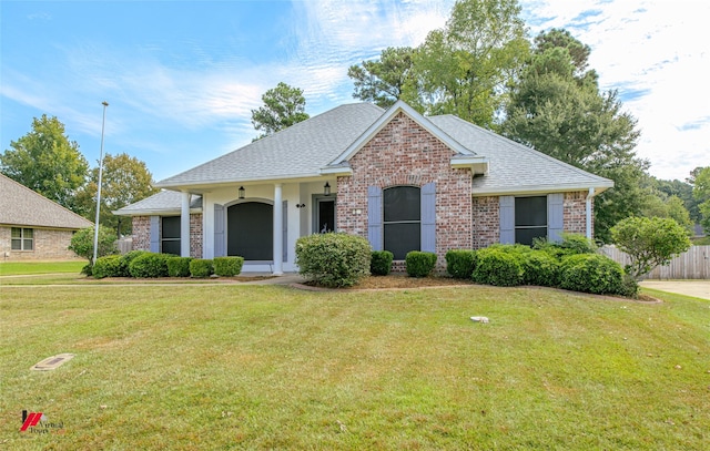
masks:
<path id="1" fill-rule="evenodd" d="M 541 152 L 452 114 L 428 117 L 460 144 L 488 157 L 488 174 L 474 178 L 474 194 L 532 191 L 604 189 L 613 182 L 562 163 Z"/>

